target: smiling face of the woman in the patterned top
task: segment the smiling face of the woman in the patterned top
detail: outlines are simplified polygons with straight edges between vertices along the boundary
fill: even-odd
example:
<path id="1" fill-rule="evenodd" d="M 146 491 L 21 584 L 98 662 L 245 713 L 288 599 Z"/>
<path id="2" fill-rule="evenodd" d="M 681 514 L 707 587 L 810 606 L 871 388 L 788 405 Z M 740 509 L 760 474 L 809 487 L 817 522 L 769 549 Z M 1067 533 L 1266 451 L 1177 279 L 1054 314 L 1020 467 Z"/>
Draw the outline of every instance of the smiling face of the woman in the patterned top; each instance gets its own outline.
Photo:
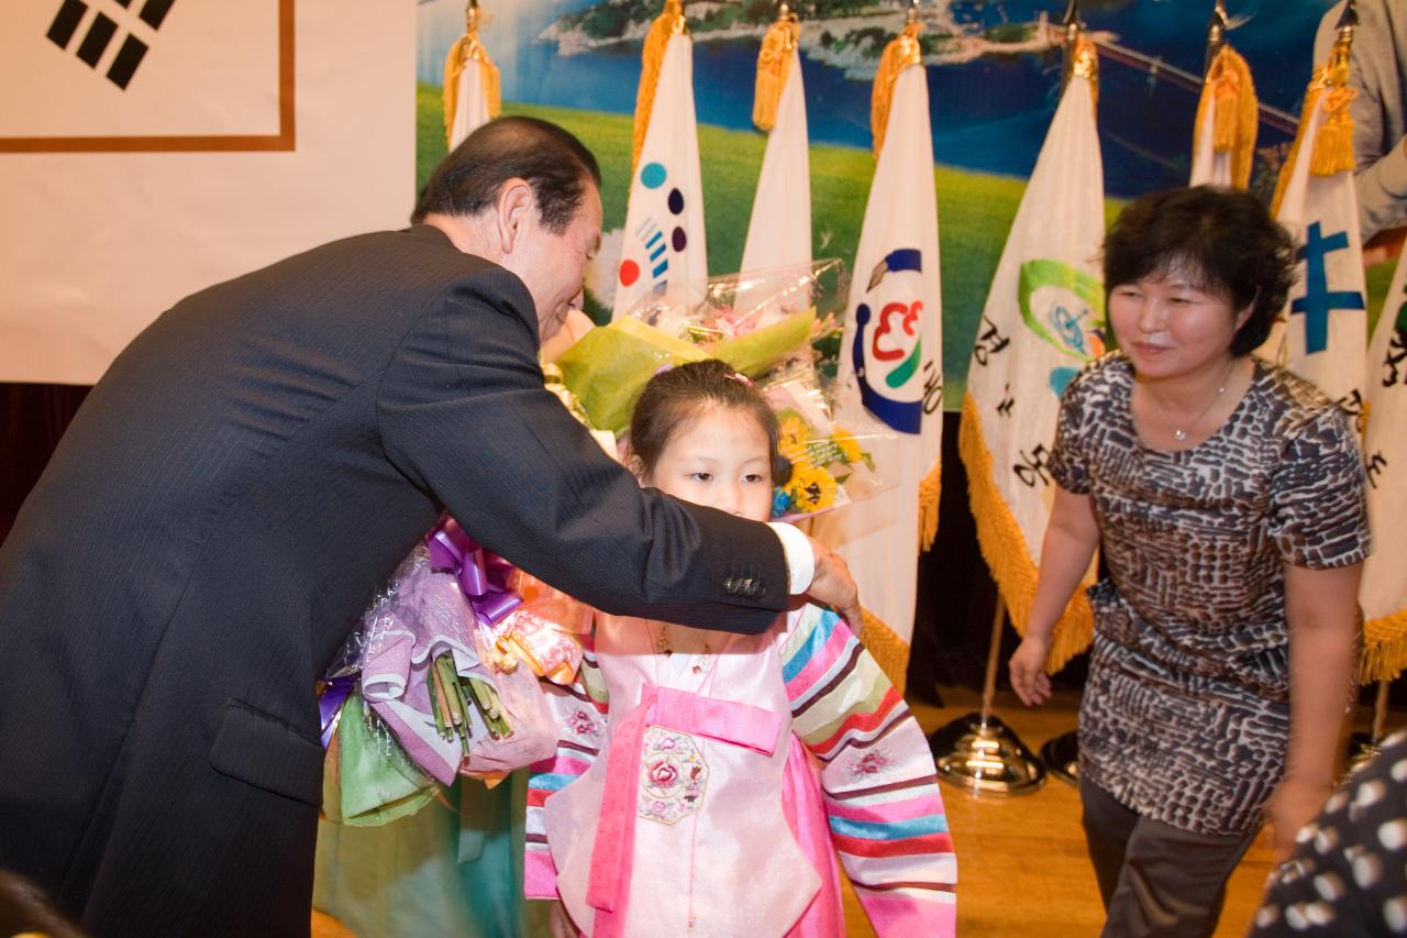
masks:
<path id="1" fill-rule="evenodd" d="M 1230 300 L 1195 283 L 1186 270 L 1173 269 L 1110 293 L 1110 325 L 1138 375 L 1175 377 L 1225 362 L 1251 310 L 1233 310 Z"/>

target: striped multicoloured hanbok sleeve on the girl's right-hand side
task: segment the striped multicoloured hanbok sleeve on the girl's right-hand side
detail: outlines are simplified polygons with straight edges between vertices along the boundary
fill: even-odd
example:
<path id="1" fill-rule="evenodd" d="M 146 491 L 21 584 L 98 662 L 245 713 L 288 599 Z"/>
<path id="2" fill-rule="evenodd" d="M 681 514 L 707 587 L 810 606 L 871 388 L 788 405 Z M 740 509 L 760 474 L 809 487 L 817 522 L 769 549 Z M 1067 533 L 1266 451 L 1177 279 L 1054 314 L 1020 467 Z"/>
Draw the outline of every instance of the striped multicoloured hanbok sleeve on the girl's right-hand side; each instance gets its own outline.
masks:
<path id="1" fill-rule="evenodd" d="M 830 837 L 875 931 L 957 928 L 957 856 L 917 720 L 844 620 L 808 607 L 782 648 L 792 731 L 822 763 Z"/>

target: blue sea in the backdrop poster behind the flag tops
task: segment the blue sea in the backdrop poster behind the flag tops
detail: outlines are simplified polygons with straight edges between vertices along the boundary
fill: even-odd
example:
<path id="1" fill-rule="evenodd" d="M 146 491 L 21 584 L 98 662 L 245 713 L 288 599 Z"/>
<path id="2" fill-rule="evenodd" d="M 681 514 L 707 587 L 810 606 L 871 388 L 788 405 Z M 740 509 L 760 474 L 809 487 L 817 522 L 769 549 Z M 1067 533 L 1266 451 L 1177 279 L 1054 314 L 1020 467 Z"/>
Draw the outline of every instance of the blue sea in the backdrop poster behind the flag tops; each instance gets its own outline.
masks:
<path id="1" fill-rule="evenodd" d="M 497 14 L 484 42 L 502 69 L 504 97 L 530 104 L 630 114 L 640 76 L 640 45 L 620 44 L 561 56 L 539 34 L 559 17 L 594 0 L 484 0 Z M 1251 63 L 1263 104 L 1297 115 L 1311 69 L 1314 31 L 1332 0 L 1231 0 L 1230 39 Z M 511 7 L 511 10 L 508 10 Z M 1043 11 L 1058 21 L 1065 0 L 953 0 L 954 18 L 972 31 L 1029 23 Z M 1210 1 L 1103 0 L 1082 4 L 1090 30 L 1107 31 L 1123 46 L 1185 72 L 1200 73 Z M 449 44 L 463 27 L 459 0 L 422 0 L 418 76 L 439 83 Z M 698 118 L 750 127 L 758 41 L 695 44 Z M 1027 176 L 1055 113 L 1061 61 L 1047 54 L 989 55 L 962 65 L 929 68 L 933 146 L 938 162 Z M 806 107 L 813 142 L 870 146 L 870 82 L 851 80 L 834 66 L 803 58 Z M 1147 63 L 1100 63 L 1099 127 L 1104 186 L 1112 196 L 1135 196 L 1176 186 L 1189 170 L 1196 93 Z M 1262 124 L 1261 145 L 1289 135 Z"/>

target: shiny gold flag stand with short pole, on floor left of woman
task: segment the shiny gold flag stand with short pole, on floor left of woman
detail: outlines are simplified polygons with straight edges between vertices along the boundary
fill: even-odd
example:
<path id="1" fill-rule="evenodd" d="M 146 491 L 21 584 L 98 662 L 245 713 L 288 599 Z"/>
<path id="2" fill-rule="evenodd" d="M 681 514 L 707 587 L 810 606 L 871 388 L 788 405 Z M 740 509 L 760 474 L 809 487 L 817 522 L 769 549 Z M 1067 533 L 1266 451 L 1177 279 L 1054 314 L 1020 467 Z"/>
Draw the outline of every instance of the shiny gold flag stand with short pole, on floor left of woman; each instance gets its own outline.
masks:
<path id="1" fill-rule="evenodd" d="M 982 711 L 958 717 L 929 737 L 938 779 L 971 794 L 1030 794 L 1045 784 L 1045 766 L 992 713 L 1005 627 L 1006 603 L 998 590 L 996 608 L 992 610 L 992 642 L 986 652 L 986 676 L 982 680 Z"/>

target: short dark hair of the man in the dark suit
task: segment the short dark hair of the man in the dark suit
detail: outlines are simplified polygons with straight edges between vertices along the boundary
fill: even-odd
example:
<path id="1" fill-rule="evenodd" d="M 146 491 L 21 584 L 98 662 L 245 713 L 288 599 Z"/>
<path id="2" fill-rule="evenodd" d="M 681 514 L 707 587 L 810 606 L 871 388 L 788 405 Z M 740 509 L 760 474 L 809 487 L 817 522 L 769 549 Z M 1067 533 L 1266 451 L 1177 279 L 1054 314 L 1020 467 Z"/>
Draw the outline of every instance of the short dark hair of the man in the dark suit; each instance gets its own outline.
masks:
<path id="1" fill-rule="evenodd" d="M 601 166 L 585 145 L 536 117 L 499 117 L 464 138 L 435 168 L 412 223 L 425 215 L 471 217 L 490 207 L 509 179 L 532 186 L 542 223 L 553 234 L 571 224 L 587 194 L 587 180 L 601 187 Z"/>

